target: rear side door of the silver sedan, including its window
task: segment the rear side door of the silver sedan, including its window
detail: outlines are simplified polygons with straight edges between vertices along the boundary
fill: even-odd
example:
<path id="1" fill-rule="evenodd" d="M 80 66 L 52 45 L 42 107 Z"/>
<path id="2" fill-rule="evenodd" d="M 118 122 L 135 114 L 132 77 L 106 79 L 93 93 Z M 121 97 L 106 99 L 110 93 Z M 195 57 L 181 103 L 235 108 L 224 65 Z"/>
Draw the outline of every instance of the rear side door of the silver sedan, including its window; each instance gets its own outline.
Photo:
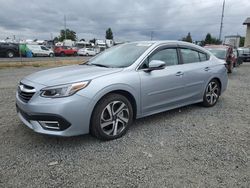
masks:
<path id="1" fill-rule="evenodd" d="M 185 103 L 192 103 L 202 99 L 204 88 L 211 76 L 212 64 L 209 55 L 198 49 L 182 46 L 179 49 L 182 60 L 184 78 Z"/>

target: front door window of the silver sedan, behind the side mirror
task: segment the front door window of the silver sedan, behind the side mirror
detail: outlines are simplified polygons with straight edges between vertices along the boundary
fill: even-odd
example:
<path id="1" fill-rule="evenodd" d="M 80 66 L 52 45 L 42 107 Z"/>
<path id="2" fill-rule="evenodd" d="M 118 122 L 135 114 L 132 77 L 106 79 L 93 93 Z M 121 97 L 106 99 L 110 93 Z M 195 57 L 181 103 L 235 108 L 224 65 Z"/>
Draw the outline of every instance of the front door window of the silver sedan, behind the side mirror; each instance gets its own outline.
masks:
<path id="1" fill-rule="evenodd" d="M 143 63 L 142 68 L 148 68 L 148 64 L 152 60 L 160 60 L 166 63 L 166 66 L 178 65 L 178 54 L 176 48 L 167 48 L 159 50 L 158 52 L 150 55 Z"/>

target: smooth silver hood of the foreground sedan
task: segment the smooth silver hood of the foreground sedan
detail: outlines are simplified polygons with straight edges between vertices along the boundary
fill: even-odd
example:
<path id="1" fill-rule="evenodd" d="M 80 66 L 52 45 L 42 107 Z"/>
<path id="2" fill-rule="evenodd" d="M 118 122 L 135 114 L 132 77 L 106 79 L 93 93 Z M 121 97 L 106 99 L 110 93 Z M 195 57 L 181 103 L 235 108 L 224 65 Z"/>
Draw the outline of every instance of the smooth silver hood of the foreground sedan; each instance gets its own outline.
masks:
<path id="1" fill-rule="evenodd" d="M 105 68 L 93 65 L 73 65 L 39 71 L 25 77 L 25 79 L 45 86 L 54 86 L 92 80 L 122 70 L 122 68 Z"/>

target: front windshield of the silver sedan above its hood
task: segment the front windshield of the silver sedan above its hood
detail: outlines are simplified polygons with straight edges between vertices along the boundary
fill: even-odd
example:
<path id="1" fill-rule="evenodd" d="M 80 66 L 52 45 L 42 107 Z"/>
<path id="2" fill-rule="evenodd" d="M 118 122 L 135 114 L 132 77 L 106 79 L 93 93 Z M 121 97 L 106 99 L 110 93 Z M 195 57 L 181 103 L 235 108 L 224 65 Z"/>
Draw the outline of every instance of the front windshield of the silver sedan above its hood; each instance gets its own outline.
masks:
<path id="1" fill-rule="evenodd" d="M 151 43 L 138 42 L 115 46 L 91 59 L 88 64 L 113 68 L 128 67 L 151 45 Z"/>

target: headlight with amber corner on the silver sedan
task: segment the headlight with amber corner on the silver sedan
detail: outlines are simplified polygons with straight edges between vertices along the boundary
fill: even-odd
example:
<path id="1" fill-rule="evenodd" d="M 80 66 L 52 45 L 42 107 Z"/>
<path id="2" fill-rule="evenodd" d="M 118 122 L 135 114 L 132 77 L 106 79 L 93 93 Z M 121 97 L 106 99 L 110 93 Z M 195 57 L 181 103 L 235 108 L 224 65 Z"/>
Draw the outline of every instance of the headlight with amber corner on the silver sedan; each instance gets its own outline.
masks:
<path id="1" fill-rule="evenodd" d="M 89 81 L 77 82 L 72 84 L 58 85 L 46 87 L 41 90 L 41 96 L 47 98 L 68 97 L 75 94 L 77 91 L 87 87 Z"/>

